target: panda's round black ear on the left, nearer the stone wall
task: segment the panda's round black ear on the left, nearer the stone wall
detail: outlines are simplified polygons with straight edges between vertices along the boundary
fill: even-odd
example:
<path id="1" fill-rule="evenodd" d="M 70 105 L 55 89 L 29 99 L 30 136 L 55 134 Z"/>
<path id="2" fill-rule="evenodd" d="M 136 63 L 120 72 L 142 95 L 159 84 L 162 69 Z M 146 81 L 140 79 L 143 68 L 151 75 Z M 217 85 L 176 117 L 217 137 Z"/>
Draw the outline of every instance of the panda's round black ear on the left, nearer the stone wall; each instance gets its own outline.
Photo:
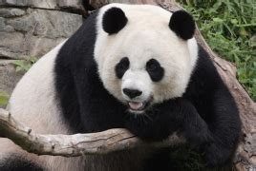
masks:
<path id="1" fill-rule="evenodd" d="M 119 8 L 107 10 L 102 19 L 102 27 L 109 34 L 115 34 L 125 27 L 128 19 Z"/>

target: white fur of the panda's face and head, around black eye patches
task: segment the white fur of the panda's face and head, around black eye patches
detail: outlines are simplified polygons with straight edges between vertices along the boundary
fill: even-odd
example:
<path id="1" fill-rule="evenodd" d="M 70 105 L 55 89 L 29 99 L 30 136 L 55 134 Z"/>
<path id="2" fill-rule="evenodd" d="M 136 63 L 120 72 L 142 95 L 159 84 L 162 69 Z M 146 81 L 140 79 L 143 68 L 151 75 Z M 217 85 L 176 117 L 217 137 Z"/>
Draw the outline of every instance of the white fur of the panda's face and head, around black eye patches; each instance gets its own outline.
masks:
<path id="1" fill-rule="evenodd" d="M 102 15 L 112 7 L 123 10 L 128 23 L 117 34 L 109 35 L 102 28 Z M 153 103 L 184 93 L 198 58 L 198 46 L 194 38 L 184 41 L 169 28 L 171 15 L 149 5 L 112 4 L 99 11 L 95 59 L 104 86 L 118 100 L 127 101 L 121 90 L 124 86 L 141 90 L 141 100 L 153 96 Z M 123 57 L 129 58 L 130 68 L 119 80 L 115 77 L 115 66 Z M 152 82 L 145 70 L 151 58 L 157 59 L 165 70 L 158 83 Z"/>

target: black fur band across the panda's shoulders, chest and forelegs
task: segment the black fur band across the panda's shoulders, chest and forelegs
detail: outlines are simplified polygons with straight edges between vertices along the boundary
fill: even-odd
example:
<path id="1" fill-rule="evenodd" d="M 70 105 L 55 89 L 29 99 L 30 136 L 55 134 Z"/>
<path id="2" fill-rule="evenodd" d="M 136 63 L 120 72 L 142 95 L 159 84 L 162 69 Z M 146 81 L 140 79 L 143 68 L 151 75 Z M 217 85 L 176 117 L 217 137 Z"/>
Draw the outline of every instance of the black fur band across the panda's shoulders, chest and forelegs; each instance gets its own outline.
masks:
<path id="1" fill-rule="evenodd" d="M 162 140 L 179 130 L 203 152 L 208 165 L 228 161 L 241 129 L 238 109 L 203 48 L 184 95 L 136 116 L 127 112 L 127 106 L 119 103 L 98 77 L 96 15 L 65 43 L 55 61 L 56 98 L 74 133 L 125 127 L 145 140 Z"/>

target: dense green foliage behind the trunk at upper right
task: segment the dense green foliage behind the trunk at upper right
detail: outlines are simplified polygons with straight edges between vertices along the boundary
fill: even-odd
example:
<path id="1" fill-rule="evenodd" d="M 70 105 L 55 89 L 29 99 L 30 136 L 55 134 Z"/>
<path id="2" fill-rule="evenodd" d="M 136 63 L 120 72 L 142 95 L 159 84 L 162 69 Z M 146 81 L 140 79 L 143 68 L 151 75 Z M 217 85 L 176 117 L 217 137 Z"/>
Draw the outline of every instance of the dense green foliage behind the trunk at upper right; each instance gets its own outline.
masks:
<path id="1" fill-rule="evenodd" d="M 234 63 L 240 83 L 256 101 L 256 1 L 179 1 L 194 16 L 209 46 Z"/>

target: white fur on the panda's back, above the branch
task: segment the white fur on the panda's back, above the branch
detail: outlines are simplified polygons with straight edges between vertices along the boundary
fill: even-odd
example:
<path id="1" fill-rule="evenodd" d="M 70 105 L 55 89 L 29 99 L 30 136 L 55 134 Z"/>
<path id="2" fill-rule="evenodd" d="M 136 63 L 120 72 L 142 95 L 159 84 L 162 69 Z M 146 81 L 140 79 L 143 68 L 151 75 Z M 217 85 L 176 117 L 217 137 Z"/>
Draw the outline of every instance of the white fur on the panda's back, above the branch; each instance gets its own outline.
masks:
<path id="1" fill-rule="evenodd" d="M 67 133 L 54 99 L 53 85 L 54 60 L 64 43 L 34 64 L 11 94 L 8 108 L 13 117 L 38 133 Z"/>

